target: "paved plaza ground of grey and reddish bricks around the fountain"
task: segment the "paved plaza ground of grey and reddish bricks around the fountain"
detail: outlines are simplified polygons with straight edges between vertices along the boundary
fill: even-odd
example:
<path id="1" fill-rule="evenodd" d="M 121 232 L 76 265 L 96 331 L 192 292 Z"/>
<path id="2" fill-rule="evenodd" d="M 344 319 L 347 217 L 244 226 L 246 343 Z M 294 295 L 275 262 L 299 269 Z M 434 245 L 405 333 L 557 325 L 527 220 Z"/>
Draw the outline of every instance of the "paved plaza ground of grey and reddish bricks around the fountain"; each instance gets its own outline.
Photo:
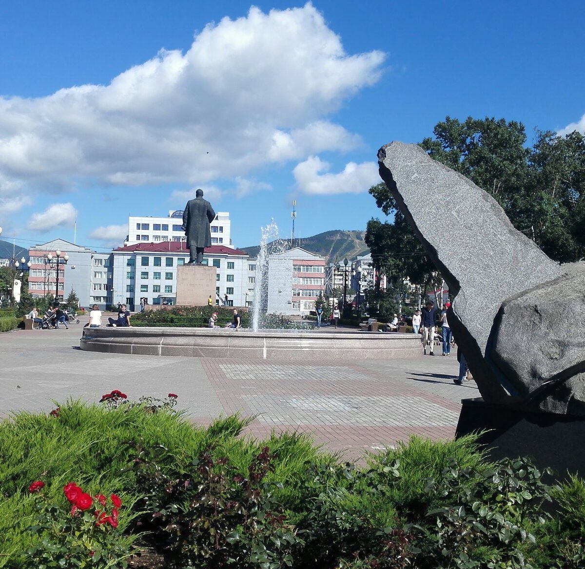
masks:
<path id="1" fill-rule="evenodd" d="M 405 440 L 411 433 L 452 437 L 460 400 L 476 384 L 453 384 L 455 354 L 395 361 L 228 360 L 130 356 L 82 351 L 80 324 L 0 334 L 0 416 L 46 411 L 53 401 L 97 402 L 112 389 L 130 399 L 178 395 L 194 422 L 219 415 L 256 416 L 247 432 L 308 432 L 346 458 Z M 335 333 L 326 330 L 324 333 Z"/>

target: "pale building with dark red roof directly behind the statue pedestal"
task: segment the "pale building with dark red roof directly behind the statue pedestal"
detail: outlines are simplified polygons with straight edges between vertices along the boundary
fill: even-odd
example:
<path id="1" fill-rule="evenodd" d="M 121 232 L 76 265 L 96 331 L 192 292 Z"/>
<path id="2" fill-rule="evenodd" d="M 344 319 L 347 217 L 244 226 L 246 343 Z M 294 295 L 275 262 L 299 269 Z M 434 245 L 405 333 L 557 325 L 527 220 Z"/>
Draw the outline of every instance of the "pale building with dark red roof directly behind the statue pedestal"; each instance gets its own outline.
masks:
<path id="1" fill-rule="evenodd" d="M 134 311 L 141 298 L 148 304 L 176 304 L 177 267 L 188 263 L 182 241 L 136 243 L 113 250 L 113 304 L 121 302 Z M 228 295 L 229 306 L 249 306 L 249 255 L 225 245 L 204 251 L 203 264 L 216 267 L 216 296 Z"/>

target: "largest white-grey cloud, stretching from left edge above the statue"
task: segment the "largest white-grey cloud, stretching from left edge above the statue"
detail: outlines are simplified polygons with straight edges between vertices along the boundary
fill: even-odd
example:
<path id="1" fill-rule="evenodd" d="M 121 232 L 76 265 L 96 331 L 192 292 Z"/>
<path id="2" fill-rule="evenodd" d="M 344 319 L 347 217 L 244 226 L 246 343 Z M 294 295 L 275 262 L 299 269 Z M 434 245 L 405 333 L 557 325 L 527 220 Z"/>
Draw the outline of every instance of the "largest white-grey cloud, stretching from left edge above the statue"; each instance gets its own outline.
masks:
<path id="1" fill-rule="evenodd" d="M 204 184 L 261 165 L 347 151 L 328 116 L 374 84 L 384 54 L 348 55 L 311 4 L 222 19 L 109 85 L 0 99 L 0 196 L 79 180 Z"/>

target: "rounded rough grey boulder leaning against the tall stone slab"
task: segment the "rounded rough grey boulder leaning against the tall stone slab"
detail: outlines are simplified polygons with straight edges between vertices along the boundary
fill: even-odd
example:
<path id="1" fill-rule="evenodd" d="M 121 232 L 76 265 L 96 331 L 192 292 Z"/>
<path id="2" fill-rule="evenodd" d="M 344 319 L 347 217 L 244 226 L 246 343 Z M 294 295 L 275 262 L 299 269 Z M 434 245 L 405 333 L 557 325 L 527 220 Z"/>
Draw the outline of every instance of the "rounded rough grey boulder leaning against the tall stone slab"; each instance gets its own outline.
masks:
<path id="1" fill-rule="evenodd" d="M 562 268 L 504 302 L 486 357 L 541 409 L 585 415 L 585 264 Z"/>

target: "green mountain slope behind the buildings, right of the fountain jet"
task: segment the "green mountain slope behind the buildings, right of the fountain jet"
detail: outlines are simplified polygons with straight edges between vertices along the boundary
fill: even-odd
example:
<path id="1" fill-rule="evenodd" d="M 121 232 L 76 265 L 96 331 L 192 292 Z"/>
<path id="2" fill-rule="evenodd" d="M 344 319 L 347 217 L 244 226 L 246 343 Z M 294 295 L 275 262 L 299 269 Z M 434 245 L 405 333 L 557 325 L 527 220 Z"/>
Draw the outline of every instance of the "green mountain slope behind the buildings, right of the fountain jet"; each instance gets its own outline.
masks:
<path id="1" fill-rule="evenodd" d="M 312 237 L 295 239 L 295 247 L 302 247 L 311 253 L 322 255 L 327 258 L 328 263 L 342 262 L 347 257 L 348 261 L 354 260 L 357 256 L 367 255 L 370 250 L 364 242 L 365 231 L 342 231 L 340 229 L 319 233 Z M 283 239 L 283 242 L 291 244 L 290 239 Z M 256 257 L 260 246 L 242 247 L 250 257 Z"/>

